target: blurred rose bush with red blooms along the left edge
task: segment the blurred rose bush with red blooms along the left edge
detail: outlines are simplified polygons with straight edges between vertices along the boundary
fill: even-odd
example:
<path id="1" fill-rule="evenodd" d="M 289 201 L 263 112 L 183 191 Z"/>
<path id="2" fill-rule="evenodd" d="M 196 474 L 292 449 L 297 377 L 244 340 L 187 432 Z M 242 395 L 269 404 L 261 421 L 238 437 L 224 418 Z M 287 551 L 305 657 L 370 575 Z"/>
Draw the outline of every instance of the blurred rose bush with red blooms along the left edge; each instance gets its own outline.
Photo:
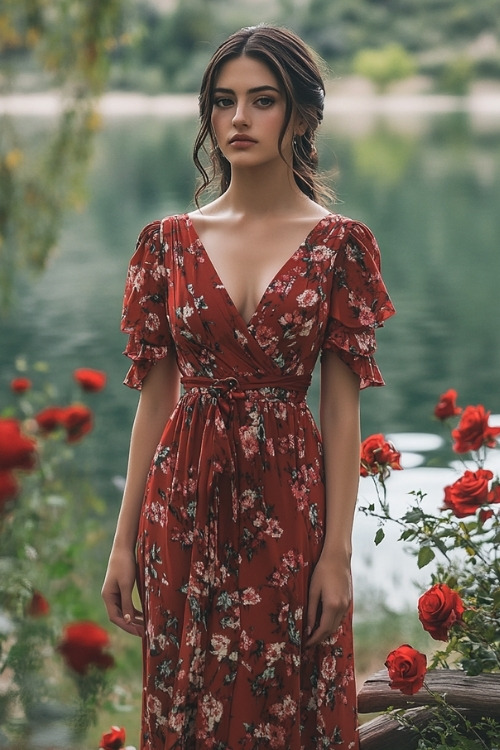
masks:
<path id="1" fill-rule="evenodd" d="M 102 390 L 103 374 L 89 389 L 89 372 L 78 376 L 84 393 Z M 50 718 L 37 717 L 47 711 L 66 717 L 54 748 L 82 747 L 113 665 L 108 633 L 92 619 L 94 610 L 103 616 L 100 597 L 88 586 L 104 505 L 75 460 L 93 413 L 44 404 L 54 389 L 37 389 L 38 377 L 11 379 L 0 412 L 0 744 L 19 750 L 41 746 L 39 731 L 46 743 Z"/>

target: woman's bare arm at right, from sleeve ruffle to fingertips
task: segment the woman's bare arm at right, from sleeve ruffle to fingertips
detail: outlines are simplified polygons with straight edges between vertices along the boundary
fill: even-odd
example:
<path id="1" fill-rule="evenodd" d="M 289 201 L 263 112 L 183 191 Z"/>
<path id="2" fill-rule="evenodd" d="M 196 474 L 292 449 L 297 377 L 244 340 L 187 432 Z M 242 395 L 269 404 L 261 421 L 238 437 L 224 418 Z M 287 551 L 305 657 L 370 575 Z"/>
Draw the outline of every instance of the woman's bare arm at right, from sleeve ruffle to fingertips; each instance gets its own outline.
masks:
<path id="1" fill-rule="evenodd" d="M 351 536 L 361 442 L 359 377 L 333 352 L 325 352 L 321 364 L 320 423 L 326 487 L 325 538 L 309 588 L 306 646 L 321 643 L 337 630 L 352 599 Z"/>

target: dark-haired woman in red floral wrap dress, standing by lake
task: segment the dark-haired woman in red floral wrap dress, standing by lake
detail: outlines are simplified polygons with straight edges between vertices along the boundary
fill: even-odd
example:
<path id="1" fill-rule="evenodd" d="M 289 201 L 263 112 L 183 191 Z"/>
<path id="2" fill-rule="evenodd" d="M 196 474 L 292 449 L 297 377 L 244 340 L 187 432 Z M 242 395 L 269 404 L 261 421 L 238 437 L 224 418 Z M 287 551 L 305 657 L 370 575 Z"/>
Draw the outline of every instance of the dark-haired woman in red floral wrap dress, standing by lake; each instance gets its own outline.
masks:
<path id="1" fill-rule="evenodd" d="M 142 391 L 103 597 L 144 636 L 147 750 L 358 746 L 358 394 L 383 384 L 374 329 L 394 310 L 371 232 L 318 202 L 323 97 L 293 33 L 224 42 L 194 151 L 220 195 L 149 224 L 130 263 Z M 322 437 L 305 401 L 320 352 Z"/>

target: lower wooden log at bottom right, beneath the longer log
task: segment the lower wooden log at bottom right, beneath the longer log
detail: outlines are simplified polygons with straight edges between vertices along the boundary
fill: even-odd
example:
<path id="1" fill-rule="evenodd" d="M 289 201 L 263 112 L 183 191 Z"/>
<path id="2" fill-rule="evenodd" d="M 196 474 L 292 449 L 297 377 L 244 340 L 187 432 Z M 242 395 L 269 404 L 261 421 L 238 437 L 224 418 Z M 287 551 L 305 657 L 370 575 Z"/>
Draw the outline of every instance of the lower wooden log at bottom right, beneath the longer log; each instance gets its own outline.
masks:
<path id="1" fill-rule="evenodd" d="M 421 706 L 405 713 L 416 727 L 422 727 L 428 722 L 431 710 Z M 418 735 L 409 727 L 401 726 L 390 714 L 382 714 L 361 724 L 359 744 L 361 750 L 415 750 Z"/>

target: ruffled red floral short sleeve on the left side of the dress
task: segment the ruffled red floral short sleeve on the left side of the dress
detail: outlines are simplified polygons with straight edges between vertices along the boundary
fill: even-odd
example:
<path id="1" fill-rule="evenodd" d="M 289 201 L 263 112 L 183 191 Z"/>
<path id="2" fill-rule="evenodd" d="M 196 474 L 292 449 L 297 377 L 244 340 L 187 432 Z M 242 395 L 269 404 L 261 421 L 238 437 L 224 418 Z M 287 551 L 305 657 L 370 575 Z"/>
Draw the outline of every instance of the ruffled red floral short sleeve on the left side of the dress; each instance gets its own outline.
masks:
<path id="1" fill-rule="evenodd" d="M 139 235 L 130 261 L 123 296 L 121 330 L 129 336 L 123 352 L 132 360 L 124 380 L 141 389 L 153 365 L 173 346 L 167 317 L 167 271 L 159 221 Z"/>

